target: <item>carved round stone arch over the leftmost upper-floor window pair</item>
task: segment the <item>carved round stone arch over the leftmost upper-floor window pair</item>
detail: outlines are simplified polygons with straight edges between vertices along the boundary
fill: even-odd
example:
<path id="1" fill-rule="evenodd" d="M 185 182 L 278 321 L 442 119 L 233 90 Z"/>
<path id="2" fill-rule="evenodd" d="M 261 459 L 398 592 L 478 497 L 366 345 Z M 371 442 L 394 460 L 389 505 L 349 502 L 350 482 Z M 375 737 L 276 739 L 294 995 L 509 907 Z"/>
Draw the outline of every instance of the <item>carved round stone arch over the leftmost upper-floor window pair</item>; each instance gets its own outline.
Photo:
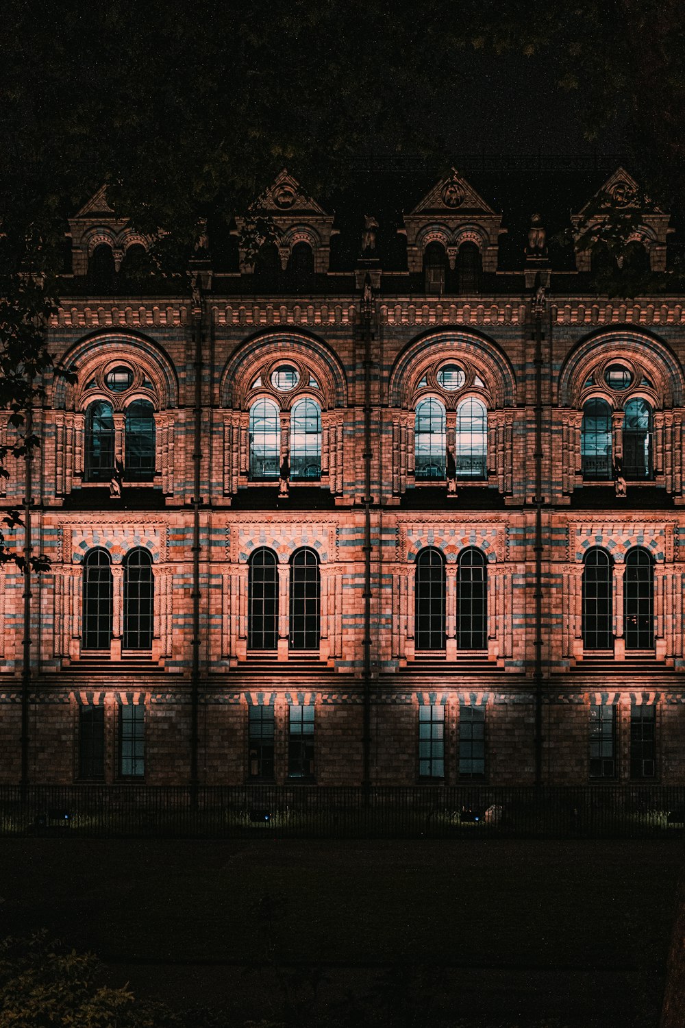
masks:
<path id="1" fill-rule="evenodd" d="M 66 372 L 76 374 L 75 383 L 67 381 L 64 375 L 54 379 L 52 405 L 60 410 L 76 410 L 96 399 L 108 399 L 100 393 L 86 393 L 85 386 L 96 372 L 112 361 L 120 359 L 141 368 L 153 386 L 158 409 L 178 406 L 179 383 L 176 369 L 162 347 L 148 336 L 129 331 L 94 332 L 67 351 L 62 367 Z M 149 397 L 146 397 L 149 399 Z"/>

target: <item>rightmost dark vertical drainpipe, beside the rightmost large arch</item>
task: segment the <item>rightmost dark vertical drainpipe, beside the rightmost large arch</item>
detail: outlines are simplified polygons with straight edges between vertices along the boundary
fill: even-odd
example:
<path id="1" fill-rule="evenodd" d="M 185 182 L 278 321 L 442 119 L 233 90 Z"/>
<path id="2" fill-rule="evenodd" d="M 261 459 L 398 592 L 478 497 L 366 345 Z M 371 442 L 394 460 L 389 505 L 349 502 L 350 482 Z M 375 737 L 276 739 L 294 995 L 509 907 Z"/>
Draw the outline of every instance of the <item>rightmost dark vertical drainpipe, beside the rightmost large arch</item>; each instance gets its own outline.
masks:
<path id="1" fill-rule="evenodd" d="M 542 784 L 542 302 L 533 299 L 535 325 L 535 784 Z"/>

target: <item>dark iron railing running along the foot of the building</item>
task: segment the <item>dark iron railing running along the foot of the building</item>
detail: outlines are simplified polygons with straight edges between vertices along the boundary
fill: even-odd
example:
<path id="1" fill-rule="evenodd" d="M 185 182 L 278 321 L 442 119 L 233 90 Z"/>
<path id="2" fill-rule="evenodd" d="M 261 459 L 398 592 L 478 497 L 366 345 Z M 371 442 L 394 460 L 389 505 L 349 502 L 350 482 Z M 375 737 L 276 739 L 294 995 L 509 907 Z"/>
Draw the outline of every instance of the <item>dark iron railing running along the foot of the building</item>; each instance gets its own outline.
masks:
<path id="1" fill-rule="evenodd" d="M 0 786 L 0 835 L 289 838 L 681 836 L 685 786 Z"/>

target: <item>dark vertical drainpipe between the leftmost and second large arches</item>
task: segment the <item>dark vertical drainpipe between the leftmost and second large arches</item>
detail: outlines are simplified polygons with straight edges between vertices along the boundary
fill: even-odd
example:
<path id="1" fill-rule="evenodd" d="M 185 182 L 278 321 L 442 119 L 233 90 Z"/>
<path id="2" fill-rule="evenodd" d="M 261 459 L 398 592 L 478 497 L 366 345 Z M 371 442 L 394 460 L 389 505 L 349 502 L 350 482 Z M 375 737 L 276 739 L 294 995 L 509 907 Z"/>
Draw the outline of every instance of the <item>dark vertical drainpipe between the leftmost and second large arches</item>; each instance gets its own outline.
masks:
<path id="1" fill-rule="evenodd" d="M 194 374 L 194 428 L 193 428 L 193 583 L 192 583 L 192 618 L 193 635 L 191 640 L 192 665 L 190 672 L 190 784 L 193 790 L 199 784 L 198 777 L 198 723 L 199 723 L 199 688 L 200 688 L 200 486 L 202 470 L 202 310 L 200 297 L 199 306 L 193 309 L 193 334 L 195 342 Z"/>

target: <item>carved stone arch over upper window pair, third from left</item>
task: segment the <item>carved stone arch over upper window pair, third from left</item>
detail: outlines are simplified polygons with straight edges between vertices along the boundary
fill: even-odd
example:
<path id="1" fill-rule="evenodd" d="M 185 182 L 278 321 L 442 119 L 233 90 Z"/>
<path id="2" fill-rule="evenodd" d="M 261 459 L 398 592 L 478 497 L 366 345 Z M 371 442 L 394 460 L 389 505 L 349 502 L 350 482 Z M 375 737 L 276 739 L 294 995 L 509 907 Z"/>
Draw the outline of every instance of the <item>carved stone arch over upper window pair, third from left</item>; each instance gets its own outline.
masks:
<path id="1" fill-rule="evenodd" d="M 517 402 L 513 368 L 497 343 L 473 331 L 430 330 L 417 336 L 399 354 L 390 372 L 388 399 L 393 407 L 411 407 L 418 382 L 437 360 L 461 360 L 483 378 L 495 408 Z"/>

